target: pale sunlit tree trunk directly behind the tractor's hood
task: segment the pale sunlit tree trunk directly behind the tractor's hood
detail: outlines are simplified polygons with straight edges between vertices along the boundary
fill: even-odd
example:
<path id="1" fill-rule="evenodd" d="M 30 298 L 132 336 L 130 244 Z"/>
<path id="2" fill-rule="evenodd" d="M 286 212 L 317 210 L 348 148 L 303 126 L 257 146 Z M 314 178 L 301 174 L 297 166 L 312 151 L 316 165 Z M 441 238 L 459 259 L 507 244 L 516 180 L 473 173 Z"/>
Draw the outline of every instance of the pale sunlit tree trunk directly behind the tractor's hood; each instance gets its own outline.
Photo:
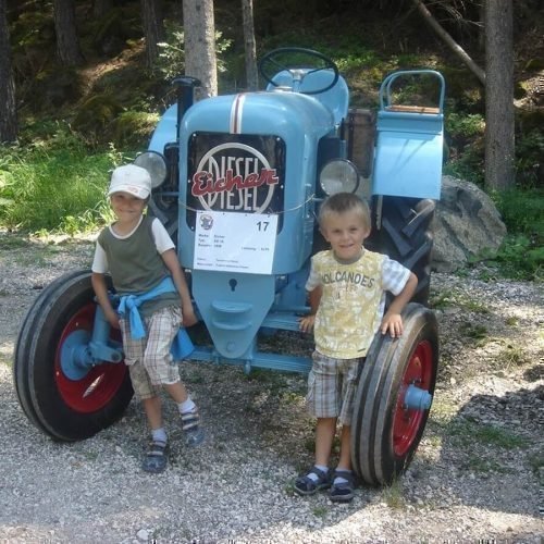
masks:
<path id="1" fill-rule="evenodd" d="M 185 75 L 200 79 L 195 99 L 218 94 L 218 64 L 215 59 L 215 23 L 213 0 L 183 0 L 185 32 Z"/>

